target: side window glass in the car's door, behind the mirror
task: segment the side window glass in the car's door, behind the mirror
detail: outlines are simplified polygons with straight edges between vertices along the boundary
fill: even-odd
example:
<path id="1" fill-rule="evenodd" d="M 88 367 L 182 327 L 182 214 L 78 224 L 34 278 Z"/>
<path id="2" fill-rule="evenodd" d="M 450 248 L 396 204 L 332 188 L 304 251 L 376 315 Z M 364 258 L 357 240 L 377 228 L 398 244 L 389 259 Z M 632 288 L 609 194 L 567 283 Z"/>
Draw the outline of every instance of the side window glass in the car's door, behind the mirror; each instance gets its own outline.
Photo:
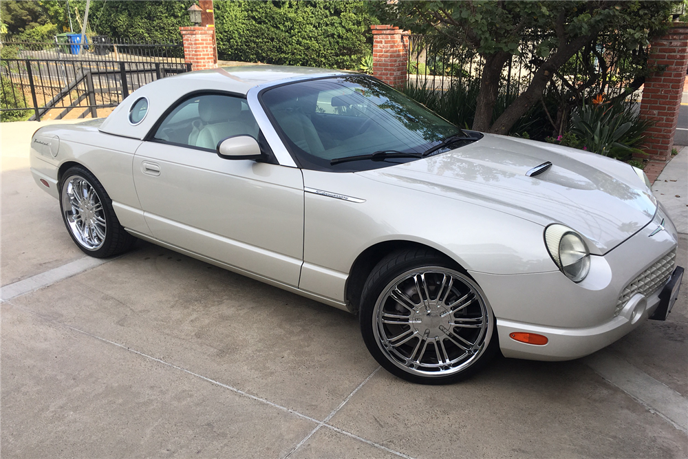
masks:
<path id="1" fill-rule="evenodd" d="M 246 100 L 204 94 L 188 98 L 175 107 L 153 138 L 214 150 L 221 140 L 241 134 L 258 140 L 258 125 Z"/>

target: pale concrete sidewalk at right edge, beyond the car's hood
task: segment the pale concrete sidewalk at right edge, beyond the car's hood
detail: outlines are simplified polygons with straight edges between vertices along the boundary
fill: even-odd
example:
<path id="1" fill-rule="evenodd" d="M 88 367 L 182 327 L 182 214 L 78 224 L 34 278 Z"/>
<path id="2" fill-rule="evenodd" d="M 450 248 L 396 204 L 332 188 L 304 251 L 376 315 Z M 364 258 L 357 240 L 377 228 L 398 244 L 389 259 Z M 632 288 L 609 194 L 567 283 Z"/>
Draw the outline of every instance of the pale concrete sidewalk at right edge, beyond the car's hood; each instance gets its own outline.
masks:
<path id="1" fill-rule="evenodd" d="M 669 213 L 679 233 L 688 234 L 688 147 L 667 162 L 652 191 Z"/>

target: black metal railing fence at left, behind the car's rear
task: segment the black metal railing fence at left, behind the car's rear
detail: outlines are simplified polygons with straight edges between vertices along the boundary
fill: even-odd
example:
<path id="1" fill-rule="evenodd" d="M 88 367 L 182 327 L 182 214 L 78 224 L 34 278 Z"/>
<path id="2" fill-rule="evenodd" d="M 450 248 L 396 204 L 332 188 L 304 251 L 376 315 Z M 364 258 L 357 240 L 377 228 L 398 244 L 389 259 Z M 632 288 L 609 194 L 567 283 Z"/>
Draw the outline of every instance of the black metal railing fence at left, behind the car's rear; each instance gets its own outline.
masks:
<path id="1" fill-rule="evenodd" d="M 116 107 L 129 93 L 151 81 L 191 71 L 182 45 L 175 43 L 98 43 L 80 50 L 76 43 L 5 41 L 0 58 L 3 120 L 53 119 L 70 111 L 79 118 Z M 14 114 L 14 116 L 12 116 Z"/>

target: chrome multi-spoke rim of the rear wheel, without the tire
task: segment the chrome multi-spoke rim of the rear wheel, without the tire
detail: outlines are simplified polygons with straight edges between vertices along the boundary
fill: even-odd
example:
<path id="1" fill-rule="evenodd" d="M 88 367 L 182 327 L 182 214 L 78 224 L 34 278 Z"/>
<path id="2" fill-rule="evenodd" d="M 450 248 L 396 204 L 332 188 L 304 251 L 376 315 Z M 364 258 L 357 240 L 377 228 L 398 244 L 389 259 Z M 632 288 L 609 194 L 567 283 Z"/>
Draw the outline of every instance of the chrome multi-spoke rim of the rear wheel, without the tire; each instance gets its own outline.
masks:
<path id="1" fill-rule="evenodd" d="M 74 239 L 87 250 L 98 250 L 107 232 L 98 193 L 85 178 L 72 175 L 63 182 L 61 194 L 65 222 Z"/>

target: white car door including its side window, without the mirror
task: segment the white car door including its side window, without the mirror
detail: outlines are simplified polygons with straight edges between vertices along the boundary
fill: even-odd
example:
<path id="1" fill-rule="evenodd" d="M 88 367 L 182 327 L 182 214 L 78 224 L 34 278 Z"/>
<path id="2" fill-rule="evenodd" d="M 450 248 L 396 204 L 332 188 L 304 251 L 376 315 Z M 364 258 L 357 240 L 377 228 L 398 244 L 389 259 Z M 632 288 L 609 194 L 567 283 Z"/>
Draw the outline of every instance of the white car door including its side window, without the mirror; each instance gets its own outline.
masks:
<path id="1" fill-rule="evenodd" d="M 246 100 L 200 94 L 158 122 L 133 161 L 133 177 L 153 237 L 193 253 L 299 284 L 303 258 L 300 169 L 227 160 L 217 142 L 258 138 Z"/>

